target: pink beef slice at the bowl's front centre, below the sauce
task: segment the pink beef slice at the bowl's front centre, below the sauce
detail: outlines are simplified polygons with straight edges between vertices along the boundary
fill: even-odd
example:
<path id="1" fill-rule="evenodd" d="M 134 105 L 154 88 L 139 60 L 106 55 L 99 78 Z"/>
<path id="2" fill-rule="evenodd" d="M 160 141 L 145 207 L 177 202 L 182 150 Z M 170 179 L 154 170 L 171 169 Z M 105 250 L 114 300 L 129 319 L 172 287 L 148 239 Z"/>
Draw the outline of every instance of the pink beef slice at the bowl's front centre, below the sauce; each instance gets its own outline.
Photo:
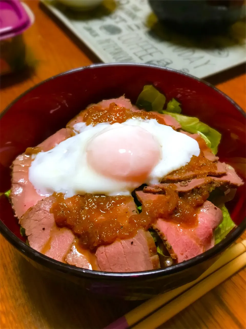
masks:
<path id="1" fill-rule="evenodd" d="M 96 258 L 99 268 L 107 272 L 138 272 L 160 267 L 155 242 L 143 229 L 133 238 L 98 247 Z"/>

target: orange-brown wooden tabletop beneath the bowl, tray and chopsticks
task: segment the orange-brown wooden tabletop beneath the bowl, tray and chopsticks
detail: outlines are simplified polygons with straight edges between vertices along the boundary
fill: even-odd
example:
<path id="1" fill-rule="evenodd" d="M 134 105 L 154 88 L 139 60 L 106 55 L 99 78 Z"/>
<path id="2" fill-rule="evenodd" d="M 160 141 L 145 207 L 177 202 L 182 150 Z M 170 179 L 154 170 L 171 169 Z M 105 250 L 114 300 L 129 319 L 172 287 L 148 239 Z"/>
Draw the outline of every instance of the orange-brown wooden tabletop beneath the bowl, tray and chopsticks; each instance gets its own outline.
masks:
<path id="1" fill-rule="evenodd" d="M 38 82 L 97 58 L 36 0 L 26 1 L 35 14 L 24 33 L 38 60 L 35 70 L 1 78 L 2 111 Z M 245 109 L 245 67 L 207 79 Z M 246 238 L 246 233 L 242 236 Z M 241 239 L 241 238 L 240 238 Z M 246 328 L 246 270 L 213 289 L 161 328 Z M 103 328 L 139 302 L 105 301 L 84 295 L 70 283 L 44 278 L 0 236 L 0 328 Z"/>

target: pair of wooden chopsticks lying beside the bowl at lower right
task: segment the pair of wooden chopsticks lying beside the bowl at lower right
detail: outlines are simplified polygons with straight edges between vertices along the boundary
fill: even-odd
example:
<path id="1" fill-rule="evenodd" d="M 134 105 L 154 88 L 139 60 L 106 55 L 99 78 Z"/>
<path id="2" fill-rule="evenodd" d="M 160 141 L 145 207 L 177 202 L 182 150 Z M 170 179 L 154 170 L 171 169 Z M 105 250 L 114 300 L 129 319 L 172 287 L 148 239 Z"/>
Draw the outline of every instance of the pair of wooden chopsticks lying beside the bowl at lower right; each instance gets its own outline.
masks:
<path id="1" fill-rule="evenodd" d="M 159 294 L 105 329 L 155 329 L 246 266 L 246 240 L 234 244 L 198 279 Z M 154 313 L 153 313 L 154 312 Z"/>

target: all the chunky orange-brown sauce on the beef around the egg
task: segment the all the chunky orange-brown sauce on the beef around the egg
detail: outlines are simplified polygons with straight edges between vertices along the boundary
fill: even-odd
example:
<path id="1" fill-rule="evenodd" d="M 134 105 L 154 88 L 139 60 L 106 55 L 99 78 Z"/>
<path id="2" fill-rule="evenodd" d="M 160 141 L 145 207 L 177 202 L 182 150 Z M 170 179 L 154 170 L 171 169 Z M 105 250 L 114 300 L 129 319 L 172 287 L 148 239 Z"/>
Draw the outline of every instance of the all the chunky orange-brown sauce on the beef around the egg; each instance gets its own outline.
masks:
<path id="1" fill-rule="evenodd" d="M 96 105 L 90 107 L 83 120 L 86 125 L 96 125 L 101 122 L 122 123 L 130 118 L 156 119 L 165 124 L 163 116 L 158 113 L 132 112 L 114 103 L 105 110 Z M 206 177 L 209 171 L 216 170 L 216 164 L 203 155 L 202 148 L 207 147 L 204 143 L 199 140 L 201 152 L 198 157 L 193 156 L 189 163 L 170 175 L 182 177 L 194 172 L 196 177 L 201 178 Z M 155 194 L 152 200 L 144 202 L 140 214 L 131 196 L 110 197 L 87 193 L 64 199 L 62 193 L 54 193 L 56 201 L 50 211 L 58 226 L 69 227 L 78 236 L 78 248 L 89 257 L 90 253 L 86 253 L 86 249 L 94 250 L 101 244 L 132 237 L 139 228 L 150 228 L 158 218 L 184 227 L 196 226 L 198 207 L 208 198 L 209 189 L 207 185 L 202 189 L 178 192 L 175 184 L 170 184 L 163 194 Z M 89 262 L 96 266 L 93 260 Z"/>

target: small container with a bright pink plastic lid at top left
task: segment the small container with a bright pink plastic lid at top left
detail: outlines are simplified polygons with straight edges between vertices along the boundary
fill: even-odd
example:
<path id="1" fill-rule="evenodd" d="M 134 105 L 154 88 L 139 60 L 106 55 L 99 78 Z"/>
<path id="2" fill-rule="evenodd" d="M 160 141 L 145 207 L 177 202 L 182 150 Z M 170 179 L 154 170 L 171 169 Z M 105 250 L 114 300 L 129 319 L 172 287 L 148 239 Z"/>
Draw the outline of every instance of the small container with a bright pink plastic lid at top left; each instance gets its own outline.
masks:
<path id="1" fill-rule="evenodd" d="M 27 5 L 18 0 L 0 1 L 0 74 L 22 69 L 25 66 L 26 47 L 22 33 L 34 21 Z"/>

